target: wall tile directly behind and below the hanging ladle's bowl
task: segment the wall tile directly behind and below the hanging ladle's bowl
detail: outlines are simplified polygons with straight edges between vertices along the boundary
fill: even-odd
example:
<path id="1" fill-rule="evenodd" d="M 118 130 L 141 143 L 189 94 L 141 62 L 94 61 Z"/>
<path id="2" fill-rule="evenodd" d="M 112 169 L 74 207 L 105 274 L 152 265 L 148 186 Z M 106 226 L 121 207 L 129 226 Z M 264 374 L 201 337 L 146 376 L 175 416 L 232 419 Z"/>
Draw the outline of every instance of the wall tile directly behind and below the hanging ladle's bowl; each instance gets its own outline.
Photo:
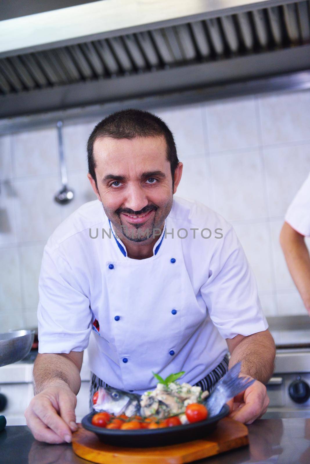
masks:
<path id="1" fill-rule="evenodd" d="M 54 201 L 58 177 L 16 180 L 13 185 L 18 241 L 47 240 L 61 222 L 62 206 Z"/>

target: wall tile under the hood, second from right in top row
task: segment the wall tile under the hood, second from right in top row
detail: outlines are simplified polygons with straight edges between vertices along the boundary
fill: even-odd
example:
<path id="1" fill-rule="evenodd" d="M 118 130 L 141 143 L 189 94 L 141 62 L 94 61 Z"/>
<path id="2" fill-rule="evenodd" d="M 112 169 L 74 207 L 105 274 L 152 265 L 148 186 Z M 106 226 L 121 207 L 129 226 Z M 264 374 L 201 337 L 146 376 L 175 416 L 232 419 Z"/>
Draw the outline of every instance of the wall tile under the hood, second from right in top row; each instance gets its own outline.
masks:
<path id="1" fill-rule="evenodd" d="M 254 98 L 208 103 L 210 153 L 258 146 Z"/>

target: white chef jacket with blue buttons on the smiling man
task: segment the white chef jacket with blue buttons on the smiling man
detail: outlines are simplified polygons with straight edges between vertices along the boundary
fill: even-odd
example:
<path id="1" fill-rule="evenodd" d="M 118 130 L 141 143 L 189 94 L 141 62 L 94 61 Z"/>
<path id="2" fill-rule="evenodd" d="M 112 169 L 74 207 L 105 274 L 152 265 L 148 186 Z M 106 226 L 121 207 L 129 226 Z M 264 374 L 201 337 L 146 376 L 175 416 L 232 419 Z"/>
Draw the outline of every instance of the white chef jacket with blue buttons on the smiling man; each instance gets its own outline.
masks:
<path id="1" fill-rule="evenodd" d="M 38 320 L 39 353 L 89 346 L 92 372 L 135 393 L 155 388 L 152 371 L 184 370 L 194 385 L 222 361 L 225 338 L 268 328 L 233 227 L 175 196 L 150 258 L 127 256 L 99 200 L 65 219 L 45 245 Z"/>

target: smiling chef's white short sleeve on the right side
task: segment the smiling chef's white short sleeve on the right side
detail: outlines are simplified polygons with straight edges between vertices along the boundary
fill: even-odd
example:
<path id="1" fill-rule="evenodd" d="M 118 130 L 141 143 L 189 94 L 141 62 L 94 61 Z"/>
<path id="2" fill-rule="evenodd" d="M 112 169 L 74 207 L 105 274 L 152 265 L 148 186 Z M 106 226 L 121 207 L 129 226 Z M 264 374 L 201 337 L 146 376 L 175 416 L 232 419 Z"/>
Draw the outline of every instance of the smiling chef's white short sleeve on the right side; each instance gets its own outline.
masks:
<path id="1" fill-rule="evenodd" d="M 252 269 L 231 227 L 213 253 L 209 278 L 200 288 L 209 315 L 223 338 L 268 329 Z"/>

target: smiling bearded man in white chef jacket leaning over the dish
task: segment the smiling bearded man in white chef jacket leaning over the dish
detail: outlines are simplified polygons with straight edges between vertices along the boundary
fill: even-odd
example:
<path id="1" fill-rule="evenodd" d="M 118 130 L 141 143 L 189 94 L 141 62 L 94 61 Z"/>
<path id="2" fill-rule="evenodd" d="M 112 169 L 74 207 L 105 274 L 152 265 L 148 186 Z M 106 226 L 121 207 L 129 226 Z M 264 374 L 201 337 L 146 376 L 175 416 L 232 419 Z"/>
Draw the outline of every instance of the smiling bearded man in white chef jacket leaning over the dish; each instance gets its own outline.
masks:
<path id="1" fill-rule="evenodd" d="M 174 197 L 183 165 L 157 116 L 114 113 L 87 150 L 97 200 L 65 219 L 44 249 L 35 396 L 25 412 L 34 437 L 71 441 L 87 347 L 91 394 L 100 385 L 144 393 L 155 388 L 152 371 L 185 371 L 182 382 L 210 390 L 241 361 L 256 381 L 231 400 L 231 416 L 251 423 L 269 403 L 275 347 L 233 227 Z"/>

